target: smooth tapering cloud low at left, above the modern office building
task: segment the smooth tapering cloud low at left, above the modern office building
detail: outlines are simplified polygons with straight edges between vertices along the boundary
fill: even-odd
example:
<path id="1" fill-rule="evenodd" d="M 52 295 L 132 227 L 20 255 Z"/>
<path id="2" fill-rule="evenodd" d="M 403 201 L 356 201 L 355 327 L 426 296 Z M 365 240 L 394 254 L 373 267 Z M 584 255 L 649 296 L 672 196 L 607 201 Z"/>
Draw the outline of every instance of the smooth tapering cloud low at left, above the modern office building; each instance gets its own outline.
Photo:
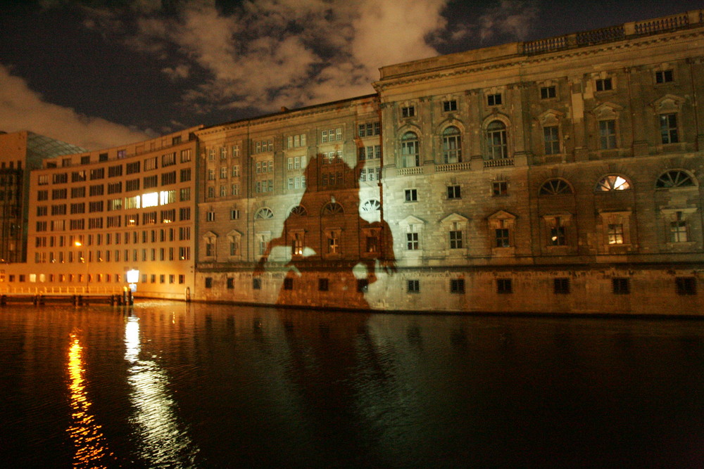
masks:
<path id="1" fill-rule="evenodd" d="M 98 150 L 156 136 L 99 117 L 88 117 L 70 108 L 46 103 L 20 77 L 0 65 L 0 130 L 29 130 L 37 134 Z"/>

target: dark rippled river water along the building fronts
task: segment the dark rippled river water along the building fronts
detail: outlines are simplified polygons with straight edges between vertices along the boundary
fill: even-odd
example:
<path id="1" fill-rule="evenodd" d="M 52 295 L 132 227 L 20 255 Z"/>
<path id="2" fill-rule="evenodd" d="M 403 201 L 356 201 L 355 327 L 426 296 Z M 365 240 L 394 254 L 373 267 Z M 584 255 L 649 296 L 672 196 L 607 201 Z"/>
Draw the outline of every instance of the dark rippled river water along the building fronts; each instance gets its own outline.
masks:
<path id="1" fill-rule="evenodd" d="M 4 467 L 701 467 L 704 323 L 0 309 Z"/>

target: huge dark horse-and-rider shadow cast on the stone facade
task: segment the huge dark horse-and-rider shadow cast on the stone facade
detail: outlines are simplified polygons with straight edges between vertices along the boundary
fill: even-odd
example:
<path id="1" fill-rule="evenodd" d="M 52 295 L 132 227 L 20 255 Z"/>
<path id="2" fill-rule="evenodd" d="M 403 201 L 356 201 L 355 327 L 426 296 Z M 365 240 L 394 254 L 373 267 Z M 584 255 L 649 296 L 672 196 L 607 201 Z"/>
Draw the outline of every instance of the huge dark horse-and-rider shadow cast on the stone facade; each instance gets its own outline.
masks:
<path id="1" fill-rule="evenodd" d="M 306 191 L 287 207 L 281 234 L 268 243 L 255 274 L 283 269 L 276 304 L 369 309 L 377 274 L 396 271 L 393 239 L 378 201 L 360 214 L 358 174 L 338 156 L 318 155 L 305 169 Z M 273 255 L 272 255 L 273 252 Z M 268 258 L 272 255 L 272 261 Z"/>

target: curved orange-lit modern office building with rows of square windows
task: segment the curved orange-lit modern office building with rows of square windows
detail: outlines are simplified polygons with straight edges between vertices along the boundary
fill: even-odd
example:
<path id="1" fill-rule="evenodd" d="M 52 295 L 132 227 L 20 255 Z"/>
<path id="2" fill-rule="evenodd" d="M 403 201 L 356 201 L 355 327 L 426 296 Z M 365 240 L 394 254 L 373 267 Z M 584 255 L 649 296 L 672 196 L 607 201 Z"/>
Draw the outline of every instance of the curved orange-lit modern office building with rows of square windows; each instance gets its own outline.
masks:
<path id="1" fill-rule="evenodd" d="M 31 172 L 27 264 L 8 288 L 185 298 L 194 286 L 198 129 L 44 159 Z"/>

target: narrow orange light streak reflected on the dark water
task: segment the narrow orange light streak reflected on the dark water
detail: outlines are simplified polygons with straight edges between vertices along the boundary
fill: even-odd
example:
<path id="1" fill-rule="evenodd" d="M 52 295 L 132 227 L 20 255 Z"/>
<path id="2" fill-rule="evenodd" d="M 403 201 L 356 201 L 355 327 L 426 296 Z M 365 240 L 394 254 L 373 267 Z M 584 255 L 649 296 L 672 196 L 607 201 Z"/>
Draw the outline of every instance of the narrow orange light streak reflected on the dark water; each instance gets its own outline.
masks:
<path id="1" fill-rule="evenodd" d="M 68 349 L 68 377 L 70 383 L 71 426 L 66 430 L 73 440 L 75 468 L 104 468 L 113 454 L 108 450 L 101 425 L 89 412 L 92 402 L 88 399 L 85 383 L 83 347 L 77 333 L 71 334 Z"/>

